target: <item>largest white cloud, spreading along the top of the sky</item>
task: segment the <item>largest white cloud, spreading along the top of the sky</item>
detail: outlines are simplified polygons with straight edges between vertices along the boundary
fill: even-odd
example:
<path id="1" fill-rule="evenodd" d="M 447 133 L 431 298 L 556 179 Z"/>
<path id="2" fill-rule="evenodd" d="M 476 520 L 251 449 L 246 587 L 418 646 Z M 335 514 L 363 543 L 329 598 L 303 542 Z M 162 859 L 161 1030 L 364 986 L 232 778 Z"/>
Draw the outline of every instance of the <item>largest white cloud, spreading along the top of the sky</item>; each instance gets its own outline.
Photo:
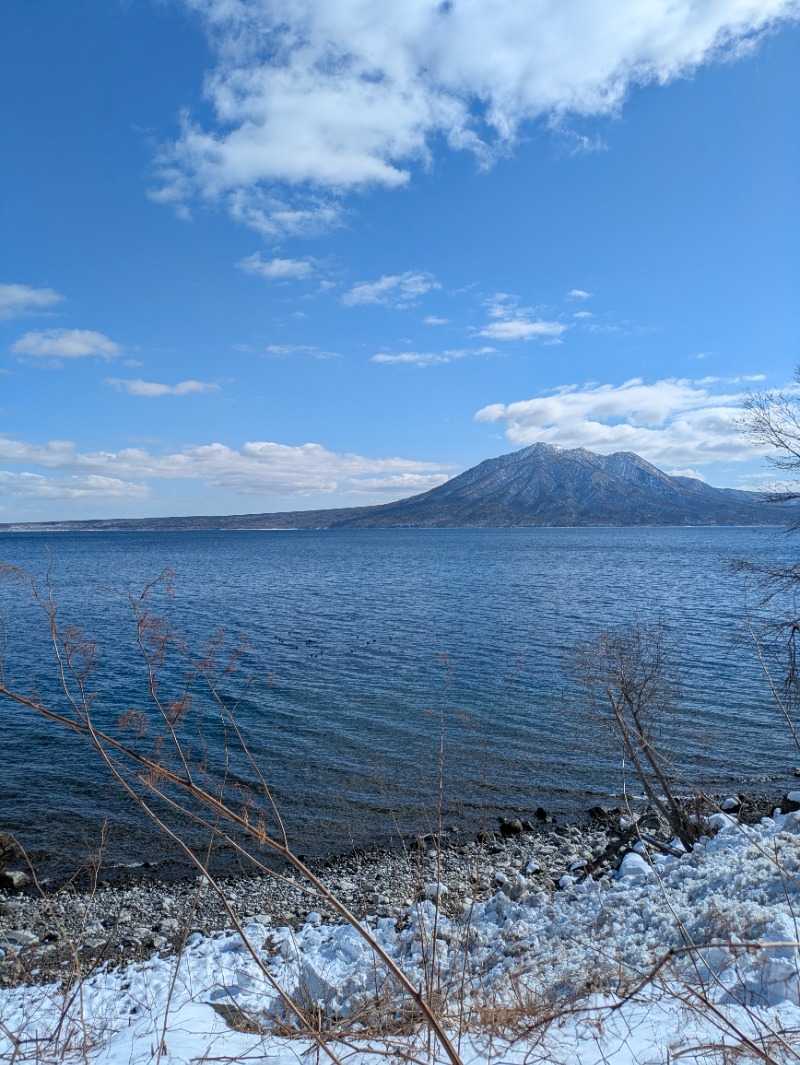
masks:
<path id="1" fill-rule="evenodd" d="M 633 86 L 737 55 L 799 14 L 797 0 L 184 3 L 215 54 L 213 119 L 184 116 L 152 195 L 184 213 L 224 202 L 272 236 L 337 225 L 343 193 L 405 185 L 440 143 L 489 165 L 526 121 L 614 114 Z"/>

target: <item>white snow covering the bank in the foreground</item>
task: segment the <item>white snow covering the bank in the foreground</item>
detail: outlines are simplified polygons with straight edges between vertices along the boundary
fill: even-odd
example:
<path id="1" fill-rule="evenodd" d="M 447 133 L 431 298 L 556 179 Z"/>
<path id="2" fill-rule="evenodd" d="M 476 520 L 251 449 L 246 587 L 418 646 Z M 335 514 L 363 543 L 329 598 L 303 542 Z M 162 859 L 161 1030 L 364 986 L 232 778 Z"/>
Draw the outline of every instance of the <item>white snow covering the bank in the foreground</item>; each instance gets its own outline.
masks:
<path id="1" fill-rule="evenodd" d="M 796 1062 L 800 814 L 756 826 L 724 814 L 712 821 L 715 834 L 691 853 L 639 847 L 618 874 L 566 876 L 554 896 L 506 878 L 457 920 L 437 913 L 446 885 L 436 883 L 402 920 L 364 924 L 414 986 L 432 986 L 446 1002 L 445 1028 L 469 1065 L 764 1053 Z M 310 914 L 298 931 L 258 921 L 243 931 L 249 947 L 236 932 L 195 933 L 180 958 L 100 971 L 66 997 L 54 986 L 0 992 L 0 1061 L 143 1065 L 163 1042 L 164 1065 L 290 1065 L 315 1047 L 292 1031 L 276 987 L 329 1026 L 349 1018 L 350 1036 L 354 1026 L 362 1036 L 375 1031 L 376 1003 L 383 1021 L 398 1016 L 396 985 L 357 929 Z M 494 1023 L 479 1023 L 490 1011 Z M 522 1035 L 512 1023 L 521 1016 Z M 356 1065 L 386 1062 L 387 1048 L 421 1060 L 428 1052 L 408 1025 L 397 1036 L 350 1042 L 332 1048 Z M 441 1048 L 436 1058 L 445 1060 Z"/>

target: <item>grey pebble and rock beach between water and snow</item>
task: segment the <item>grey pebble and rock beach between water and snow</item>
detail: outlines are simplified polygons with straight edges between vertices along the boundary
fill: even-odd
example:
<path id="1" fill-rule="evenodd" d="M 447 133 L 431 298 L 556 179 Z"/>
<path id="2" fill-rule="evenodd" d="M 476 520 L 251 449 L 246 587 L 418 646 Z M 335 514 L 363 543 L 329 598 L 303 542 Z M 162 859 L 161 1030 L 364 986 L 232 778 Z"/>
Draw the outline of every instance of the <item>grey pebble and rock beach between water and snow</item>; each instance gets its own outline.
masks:
<path id="1" fill-rule="evenodd" d="M 729 800 L 729 805 L 732 801 Z M 755 822 L 780 800 L 741 800 L 742 820 Z M 463 913 L 496 891 L 518 898 L 530 888 L 556 891 L 565 883 L 618 866 L 634 846 L 668 850 L 647 810 L 636 823 L 619 810 L 594 807 L 584 823 L 556 825 L 539 818 L 502 818 L 495 831 L 464 839 L 451 831 L 418 836 L 399 847 L 375 848 L 308 864 L 359 919 L 404 919 L 412 902 L 438 898 L 445 913 Z M 9 837 L 5 837 L 6 839 Z M 2 847 L 0 846 L 0 850 Z M 6 853 L 7 858 L 7 853 Z M 7 861 L 6 861 L 7 866 Z M 14 870 L 12 870 L 14 874 Z M 203 876 L 127 886 L 63 888 L 53 895 L 9 881 L 0 891 L 0 986 L 69 982 L 102 965 L 120 965 L 179 950 L 192 933 L 230 928 L 225 901 L 240 920 L 299 927 L 311 911 L 332 911 L 304 890 L 297 873 L 281 878 L 223 878 L 224 900 Z M 570 880 L 565 881 L 565 878 Z"/>

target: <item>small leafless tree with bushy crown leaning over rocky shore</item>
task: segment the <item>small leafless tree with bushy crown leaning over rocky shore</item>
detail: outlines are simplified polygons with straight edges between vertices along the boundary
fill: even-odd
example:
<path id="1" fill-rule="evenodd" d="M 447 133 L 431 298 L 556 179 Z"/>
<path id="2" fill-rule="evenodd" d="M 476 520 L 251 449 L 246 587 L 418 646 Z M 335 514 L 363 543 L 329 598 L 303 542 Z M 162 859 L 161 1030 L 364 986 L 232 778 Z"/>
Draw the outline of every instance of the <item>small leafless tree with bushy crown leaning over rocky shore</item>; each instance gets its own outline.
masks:
<path id="1" fill-rule="evenodd" d="M 672 767 L 658 743 L 680 694 L 670 652 L 663 625 L 637 620 L 581 644 L 576 675 L 651 805 L 691 849 L 699 826 L 675 796 Z"/>

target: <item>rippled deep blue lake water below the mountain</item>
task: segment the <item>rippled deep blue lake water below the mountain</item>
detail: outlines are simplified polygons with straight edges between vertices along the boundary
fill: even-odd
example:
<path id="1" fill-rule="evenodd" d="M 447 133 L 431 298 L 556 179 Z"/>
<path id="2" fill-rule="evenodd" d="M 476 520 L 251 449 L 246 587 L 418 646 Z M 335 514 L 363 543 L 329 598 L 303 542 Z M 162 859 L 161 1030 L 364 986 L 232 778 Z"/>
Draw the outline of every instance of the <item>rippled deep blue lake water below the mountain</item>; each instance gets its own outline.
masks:
<path id="1" fill-rule="evenodd" d="M 572 656 L 637 613 L 680 637 L 682 770 L 768 791 L 798 760 L 746 638 L 741 580 L 725 567 L 787 558 L 793 541 L 775 530 L 0 536 L 0 561 L 39 578 L 48 550 L 60 622 L 96 644 L 100 724 L 146 707 L 126 596 L 164 567 L 175 594 L 153 606 L 192 649 L 219 628 L 246 636 L 252 679 L 236 720 L 306 852 L 425 828 L 442 725 L 448 822 L 474 828 L 486 813 L 539 805 L 566 816 L 618 796 L 620 759 L 575 688 Z M 0 607 L 6 678 L 63 707 L 46 619 L 14 581 L 0 580 Z M 5 702 L 0 744 L 0 828 L 33 851 L 68 855 L 108 817 L 115 858 L 158 852 L 78 738 Z"/>

